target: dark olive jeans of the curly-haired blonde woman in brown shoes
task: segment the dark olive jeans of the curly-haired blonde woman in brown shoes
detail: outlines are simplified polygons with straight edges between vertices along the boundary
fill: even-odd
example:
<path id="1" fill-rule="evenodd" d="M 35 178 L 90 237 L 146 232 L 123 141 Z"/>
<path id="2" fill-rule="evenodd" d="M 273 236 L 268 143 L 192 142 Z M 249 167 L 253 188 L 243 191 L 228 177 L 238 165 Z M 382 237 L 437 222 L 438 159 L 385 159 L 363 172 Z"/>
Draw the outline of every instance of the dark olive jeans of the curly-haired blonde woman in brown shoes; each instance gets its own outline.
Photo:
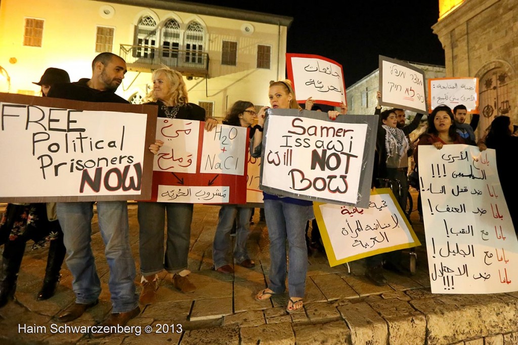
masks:
<path id="1" fill-rule="evenodd" d="M 157 274 L 163 269 L 175 274 L 187 268 L 192 220 L 193 204 L 138 203 L 140 272 L 143 276 Z"/>

